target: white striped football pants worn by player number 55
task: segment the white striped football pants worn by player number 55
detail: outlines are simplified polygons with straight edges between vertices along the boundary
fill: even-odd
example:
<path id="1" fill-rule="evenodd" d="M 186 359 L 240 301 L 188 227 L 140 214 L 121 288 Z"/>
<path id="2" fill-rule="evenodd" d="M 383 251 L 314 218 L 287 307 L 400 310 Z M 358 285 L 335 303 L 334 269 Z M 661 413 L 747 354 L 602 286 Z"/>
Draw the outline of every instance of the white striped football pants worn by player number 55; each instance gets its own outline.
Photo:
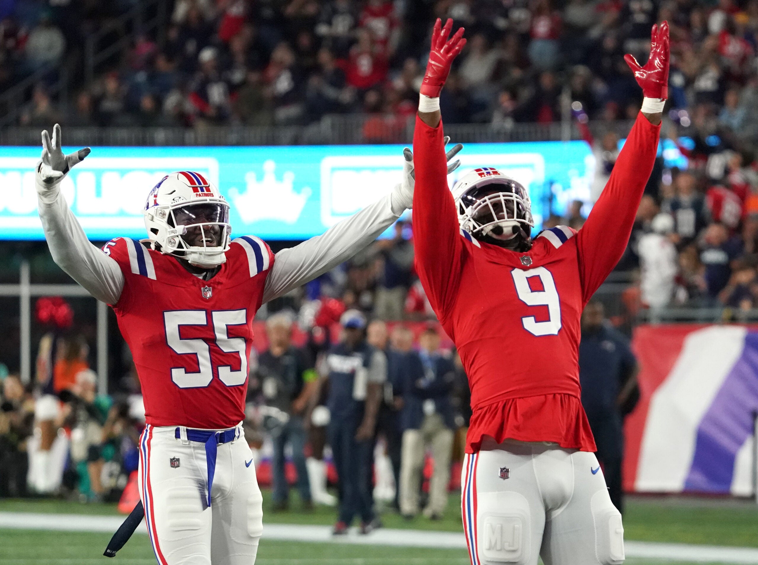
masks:
<path id="1" fill-rule="evenodd" d="M 208 507 L 205 444 L 176 439 L 176 426 L 140 437 L 139 498 L 161 565 L 252 565 L 263 532 L 263 498 L 242 426 L 218 445 Z"/>

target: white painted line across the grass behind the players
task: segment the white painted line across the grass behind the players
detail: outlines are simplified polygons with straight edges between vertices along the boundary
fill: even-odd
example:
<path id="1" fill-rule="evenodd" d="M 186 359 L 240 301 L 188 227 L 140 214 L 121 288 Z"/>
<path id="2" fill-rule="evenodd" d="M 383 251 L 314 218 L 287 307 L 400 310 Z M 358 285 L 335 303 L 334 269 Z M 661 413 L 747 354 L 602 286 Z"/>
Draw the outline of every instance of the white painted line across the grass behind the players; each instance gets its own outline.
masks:
<path id="1" fill-rule="evenodd" d="M 124 517 L 83 514 L 46 514 L 0 512 L 0 529 L 42 529 L 65 532 L 115 532 Z M 145 523 L 136 530 L 147 533 Z M 359 535 L 353 529 L 348 535 L 334 537 L 331 526 L 300 524 L 264 524 L 263 537 L 289 542 L 325 542 L 359 545 L 393 545 L 400 547 L 465 549 L 459 532 L 431 532 L 418 529 L 377 529 Z M 695 561 L 697 563 L 741 563 L 758 565 L 758 548 L 730 548 L 716 545 L 625 542 L 626 556 L 632 558 Z"/>

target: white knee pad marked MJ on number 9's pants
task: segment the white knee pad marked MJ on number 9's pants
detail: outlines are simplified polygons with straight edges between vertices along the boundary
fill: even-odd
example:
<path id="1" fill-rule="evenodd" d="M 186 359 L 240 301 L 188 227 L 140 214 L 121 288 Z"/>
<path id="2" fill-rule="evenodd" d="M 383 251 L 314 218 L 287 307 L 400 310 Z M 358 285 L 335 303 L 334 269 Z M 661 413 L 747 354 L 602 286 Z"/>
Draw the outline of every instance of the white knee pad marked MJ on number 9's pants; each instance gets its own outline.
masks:
<path id="1" fill-rule="evenodd" d="M 477 551 L 481 563 L 524 565 L 531 558 L 531 512 L 518 492 L 478 492 Z"/>

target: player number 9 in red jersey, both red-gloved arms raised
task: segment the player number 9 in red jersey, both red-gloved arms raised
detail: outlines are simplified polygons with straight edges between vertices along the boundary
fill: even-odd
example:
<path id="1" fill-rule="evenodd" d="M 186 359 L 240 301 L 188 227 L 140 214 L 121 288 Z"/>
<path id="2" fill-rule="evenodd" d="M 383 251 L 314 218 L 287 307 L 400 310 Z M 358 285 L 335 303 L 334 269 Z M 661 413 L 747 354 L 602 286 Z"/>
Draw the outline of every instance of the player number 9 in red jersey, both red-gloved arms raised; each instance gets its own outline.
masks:
<path id="1" fill-rule="evenodd" d="M 581 311 L 621 258 L 653 168 L 669 73 L 669 26 L 653 26 L 650 59 L 626 61 L 644 92 L 600 199 L 578 232 L 531 238 L 528 192 L 495 169 L 447 186 L 439 95 L 465 43 L 432 33 L 415 126 L 416 268 L 458 348 L 473 415 L 462 471 L 472 565 L 622 563 L 622 519 L 610 501 L 581 407 Z"/>

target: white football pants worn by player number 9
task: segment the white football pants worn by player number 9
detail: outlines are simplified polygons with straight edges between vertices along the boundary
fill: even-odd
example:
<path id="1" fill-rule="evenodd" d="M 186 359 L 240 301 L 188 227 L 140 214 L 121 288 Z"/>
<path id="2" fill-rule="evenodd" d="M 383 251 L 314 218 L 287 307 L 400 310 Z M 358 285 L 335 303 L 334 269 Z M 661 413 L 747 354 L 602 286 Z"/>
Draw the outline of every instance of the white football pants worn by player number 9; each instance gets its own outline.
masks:
<path id="1" fill-rule="evenodd" d="M 597 457 L 555 444 L 484 442 L 462 470 L 471 565 L 617 565 L 624 529 Z"/>

